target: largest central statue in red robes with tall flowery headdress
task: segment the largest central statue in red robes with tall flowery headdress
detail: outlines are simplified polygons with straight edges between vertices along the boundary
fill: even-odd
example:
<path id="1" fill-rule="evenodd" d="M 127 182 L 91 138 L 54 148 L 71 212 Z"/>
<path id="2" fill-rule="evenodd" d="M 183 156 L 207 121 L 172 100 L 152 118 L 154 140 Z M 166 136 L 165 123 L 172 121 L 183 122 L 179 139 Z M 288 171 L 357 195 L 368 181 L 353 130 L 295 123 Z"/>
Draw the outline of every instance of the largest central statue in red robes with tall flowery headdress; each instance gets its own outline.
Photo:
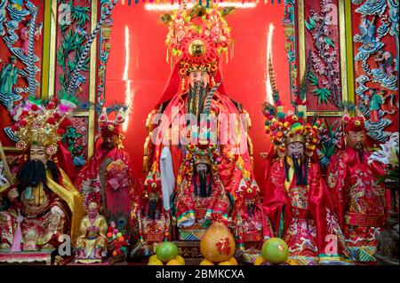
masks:
<path id="1" fill-rule="evenodd" d="M 251 182 L 254 179 L 251 138 L 247 135 L 250 118 L 240 104 L 228 98 L 221 82 L 220 58 L 231 43 L 225 16 L 226 13 L 216 7 L 201 5 L 188 12 L 185 4 L 173 15 L 163 16 L 169 25 L 168 56 L 172 54 L 177 59 L 158 106 L 148 115 L 144 196 L 148 198 L 150 191 L 158 192 L 156 207 L 162 209 L 166 220 L 171 218 L 170 204 L 174 204 L 177 210 L 172 223 L 178 226 L 179 239 L 182 239 L 181 232 L 186 230 L 187 239 L 198 240 L 195 228 L 204 220 L 200 211 L 221 205 L 220 214 L 229 217 L 227 195 L 234 196 L 242 179 Z M 218 165 L 193 165 L 190 174 L 187 168 L 180 170 L 187 162 L 188 145 L 199 149 L 204 144 L 218 145 Z M 200 173 L 203 169 L 205 177 Z M 211 191 L 207 188 L 202 197 L 198 182 L 204 181 L 205 185 L 211 186 Z M 220 193 L 220 196 L 208 201 L 208 193 Z M 184 202 L 184 195 L 193 196 L 189 198 L 193 202 Z M 142 203 L 148 203 L 148 200 Z M 185 213 L 188 219 L 184 220 Z M 185 227 L 187 224 L 190 225 Z M 142 221 L 142 227 L 145 225 L 148 224 Z M 171 223 L 165 223 L 164 227 L 167 226 Z M 193 229 L 192 234 L 190 229 Z M 165 229 L 167 231 L 173 232 Z M 165 236 L 171 240 L 174 235 L 166 234 L 158 240 Z"/>

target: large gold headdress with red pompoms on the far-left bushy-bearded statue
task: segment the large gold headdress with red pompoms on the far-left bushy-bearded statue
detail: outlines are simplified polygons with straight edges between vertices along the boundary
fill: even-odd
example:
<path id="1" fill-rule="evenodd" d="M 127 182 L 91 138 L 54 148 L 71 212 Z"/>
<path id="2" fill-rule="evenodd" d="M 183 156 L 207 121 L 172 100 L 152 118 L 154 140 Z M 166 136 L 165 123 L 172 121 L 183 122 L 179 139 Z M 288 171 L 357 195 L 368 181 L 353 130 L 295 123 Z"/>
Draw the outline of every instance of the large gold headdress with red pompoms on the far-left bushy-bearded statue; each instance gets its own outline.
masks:
<path id="1" fill-rule="evenodd" d="M 62 139 L 68 127 L 72 112 L 76 108 L 75 101 L 52 98 L 47 103 L 28 98 L 13 112 L 15 124 L 12 131 L 20 138 L 16 147 L 25 150 L 29 145 L 42 145 L 46 153 L 57 152 L 57 143 Z"/>

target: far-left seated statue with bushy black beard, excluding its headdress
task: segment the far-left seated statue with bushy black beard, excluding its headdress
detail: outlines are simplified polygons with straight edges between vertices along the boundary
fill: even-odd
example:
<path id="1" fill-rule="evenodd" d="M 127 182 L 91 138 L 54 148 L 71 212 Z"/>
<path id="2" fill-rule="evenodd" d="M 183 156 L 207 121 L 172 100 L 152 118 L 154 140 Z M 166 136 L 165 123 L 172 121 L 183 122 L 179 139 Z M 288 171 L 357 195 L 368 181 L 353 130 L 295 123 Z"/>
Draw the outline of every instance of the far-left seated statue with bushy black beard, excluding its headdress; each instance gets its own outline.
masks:
<path id="1" fill-rule="evenodd" d="M 1 250 L 56 248 L 60 235 L 71 234 L 71 222 L 83 214 L 79 193 L 43 145 L 30 146 L 29 160 L 20 167 L 16 179 L 18 185 L 1 192 L 10 204 L 0 212 Z M 74 219 L 72 212 L 76 213 Z"/>

